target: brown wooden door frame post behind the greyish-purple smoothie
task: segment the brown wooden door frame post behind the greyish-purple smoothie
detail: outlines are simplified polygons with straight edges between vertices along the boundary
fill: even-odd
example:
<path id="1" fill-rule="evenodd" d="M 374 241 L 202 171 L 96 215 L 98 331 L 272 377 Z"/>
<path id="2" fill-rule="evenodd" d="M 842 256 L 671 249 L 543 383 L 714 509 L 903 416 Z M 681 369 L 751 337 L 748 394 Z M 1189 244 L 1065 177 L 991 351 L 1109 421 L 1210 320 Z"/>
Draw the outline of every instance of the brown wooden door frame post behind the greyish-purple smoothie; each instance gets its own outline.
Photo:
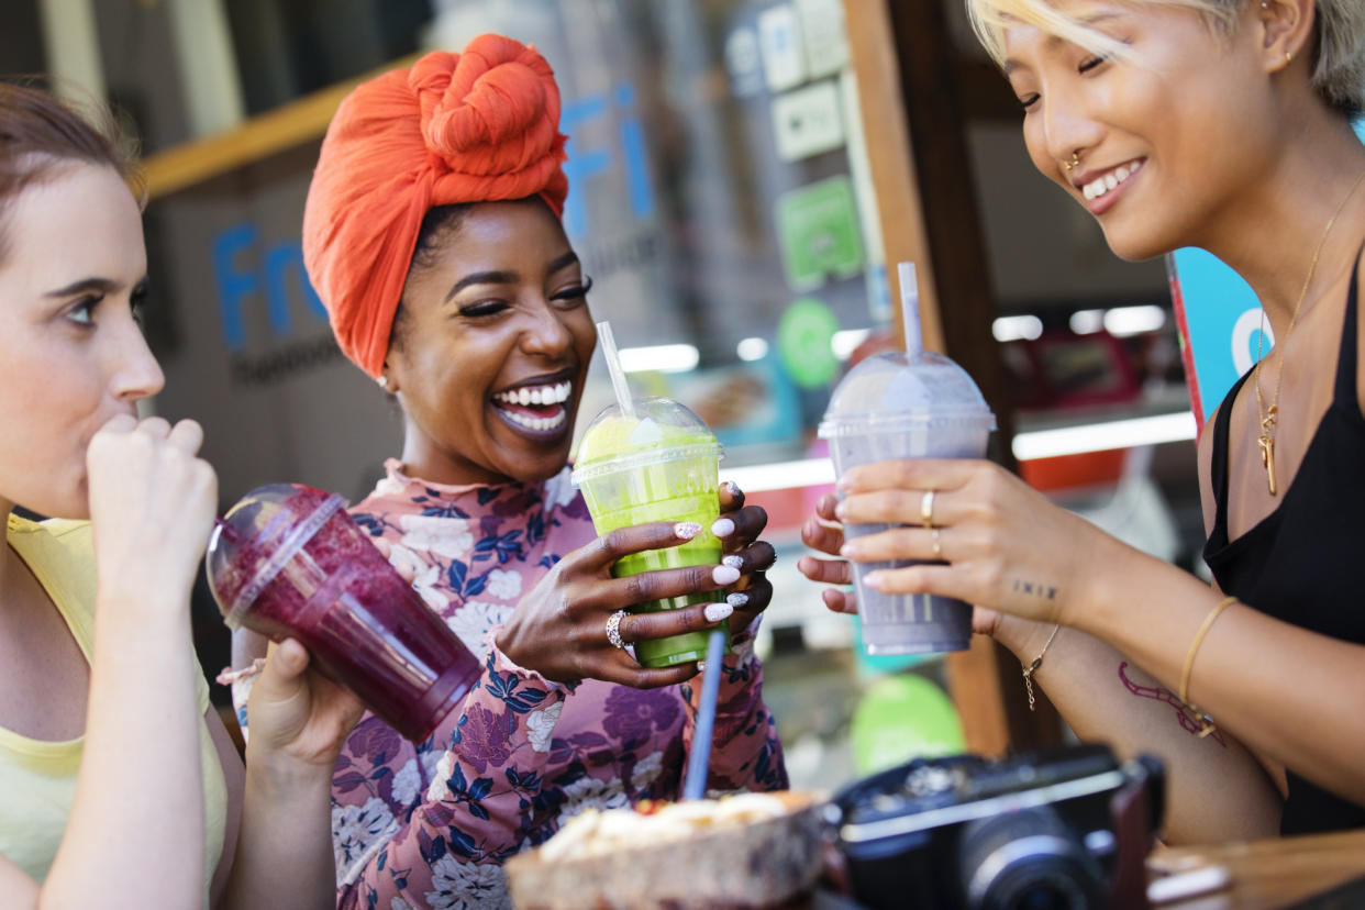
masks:
<path id="1" fill-rule="evenodd" d="M 995 292 L 943 1 L 845 0 L 849 48 L 889 276 L 897 262 L 916 263 L 925 347 L 980 385 L 999 422 L 991 457 L 1013 471 Z M 1001 756 L 1061 741 L 1057 709 L 1046 697 L 1028 709 L 1018 660 L 992 640 L 973 636 L 969 651 L 949 655 L 947 678 L 969 750 Z"/>

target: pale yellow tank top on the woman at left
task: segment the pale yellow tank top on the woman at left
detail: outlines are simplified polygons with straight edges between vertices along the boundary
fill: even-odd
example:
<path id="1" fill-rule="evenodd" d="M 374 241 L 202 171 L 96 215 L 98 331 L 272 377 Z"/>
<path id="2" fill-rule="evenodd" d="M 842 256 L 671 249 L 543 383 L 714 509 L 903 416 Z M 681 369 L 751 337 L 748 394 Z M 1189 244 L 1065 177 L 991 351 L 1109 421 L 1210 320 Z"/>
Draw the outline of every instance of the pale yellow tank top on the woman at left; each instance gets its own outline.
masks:
<path id="1" fill-rule="evenodd" d="M 35 524 L 10 516 L 7 539 L 57 606 L 86 660 L 94 647 L 96 572 L 87 521 Z M 209 684 L 195 677 L 201 714 L 209 708 Z M 85 738 L 66 742 L 30 739 L 0 727 L 0 853 L 37 881 L 48 876 L 75 797 Z M 222 851 L 227 787 L 209 727 L 199 724 L 203 768 L 205 906 L 209 883 Z M 136 836 L 111 831 L 109 836 Z"/>

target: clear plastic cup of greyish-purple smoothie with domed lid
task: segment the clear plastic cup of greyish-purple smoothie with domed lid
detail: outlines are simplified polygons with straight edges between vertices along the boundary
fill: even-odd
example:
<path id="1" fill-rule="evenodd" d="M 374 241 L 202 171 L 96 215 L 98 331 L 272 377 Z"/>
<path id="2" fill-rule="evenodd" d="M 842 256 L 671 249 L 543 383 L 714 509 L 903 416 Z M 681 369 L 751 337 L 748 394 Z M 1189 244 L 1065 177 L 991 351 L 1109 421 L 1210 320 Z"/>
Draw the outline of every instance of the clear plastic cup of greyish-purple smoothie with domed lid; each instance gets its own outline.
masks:
<path id="1" fill-rule="evenodd" d="M 835 475 L 900 458 L 980 458 L 995 416 L 966 371 L 940 353 L 893 351 L 868 357 L 839 382 L 820 423 Z M 845 525 L 857 539 L 895 525 Z M 928 593 L 882 593 L 863 580 L 915 561 L 853 563 L 863 648 L 871 655 L 962 651 L 972 607 Z"/>

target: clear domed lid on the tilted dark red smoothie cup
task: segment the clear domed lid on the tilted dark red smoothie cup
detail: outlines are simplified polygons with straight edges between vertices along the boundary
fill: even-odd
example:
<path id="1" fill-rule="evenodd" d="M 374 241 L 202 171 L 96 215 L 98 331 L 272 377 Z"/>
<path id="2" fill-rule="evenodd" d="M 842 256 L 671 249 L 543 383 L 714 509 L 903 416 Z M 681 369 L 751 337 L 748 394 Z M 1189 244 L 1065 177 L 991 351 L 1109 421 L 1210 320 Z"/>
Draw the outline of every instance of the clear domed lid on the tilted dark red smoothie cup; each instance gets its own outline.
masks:
<path id="1" fill-rule="evenodd" d="M 203 563 L 229 628 L 242 625 L 280 569 L 344 506 L 332 493 L 273 483 L 244 495 L 217 521 Z"/>

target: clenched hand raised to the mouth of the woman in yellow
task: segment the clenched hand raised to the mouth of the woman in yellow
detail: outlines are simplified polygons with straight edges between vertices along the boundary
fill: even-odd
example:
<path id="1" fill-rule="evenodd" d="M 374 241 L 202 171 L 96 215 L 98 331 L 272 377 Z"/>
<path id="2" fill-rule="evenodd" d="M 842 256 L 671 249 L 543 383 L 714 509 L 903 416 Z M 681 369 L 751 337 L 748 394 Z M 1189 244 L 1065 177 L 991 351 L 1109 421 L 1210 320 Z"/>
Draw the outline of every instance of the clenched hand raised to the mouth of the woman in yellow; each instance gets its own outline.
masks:
<path id="1" fill-rule="evenodd" d="M 161 417 L 117 416 L 86 450 L 90 524 L 101 596 L 146 602 L 173 593 L 183 607 L 203 558 L 218 480 L 198 457 L 203 430 Z"/>

